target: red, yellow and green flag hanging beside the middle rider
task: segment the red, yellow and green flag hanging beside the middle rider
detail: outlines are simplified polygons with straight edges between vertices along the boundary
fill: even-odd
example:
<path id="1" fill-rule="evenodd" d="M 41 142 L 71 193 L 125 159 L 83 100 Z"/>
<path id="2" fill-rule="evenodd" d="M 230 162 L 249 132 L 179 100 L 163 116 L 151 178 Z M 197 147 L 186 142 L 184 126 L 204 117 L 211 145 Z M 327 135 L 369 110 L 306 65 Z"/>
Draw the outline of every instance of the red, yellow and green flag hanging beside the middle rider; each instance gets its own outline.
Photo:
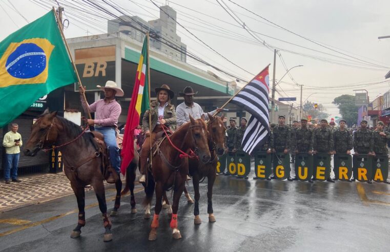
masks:
<path id="1" fill-rule="evenodd" d="M 145 36 L 145 39 L 143 40 L 137 73 L 135 74 L 133 94 L 131 95 L 129 112 L 127 114 L 125 134 L 122 142 L 122 163 L 120 165 L 120 172 L 124 175 L 126 173 L 127 166 L 129 166 L 134 157 L 134 130 L 139 125 L 141 113 L 150 109 L 148 39 L 149 36 Z"/>

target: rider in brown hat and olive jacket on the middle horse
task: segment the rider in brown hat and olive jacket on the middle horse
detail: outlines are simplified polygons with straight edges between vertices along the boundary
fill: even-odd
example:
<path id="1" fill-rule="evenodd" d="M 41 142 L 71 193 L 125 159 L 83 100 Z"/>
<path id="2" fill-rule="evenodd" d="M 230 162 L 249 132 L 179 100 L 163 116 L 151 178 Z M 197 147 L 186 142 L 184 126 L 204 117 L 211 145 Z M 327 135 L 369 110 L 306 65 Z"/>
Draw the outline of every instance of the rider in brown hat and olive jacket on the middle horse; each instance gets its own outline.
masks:
<path id="1" fill-rule="evenodd" d="M 148 164 L 150 148 L 156 140 L 156 134 L 163 131 L 163 125 L 169 127 L 171 131 L 174 131 L 176 128 L 175 107 L 171 104 L 171 99 L 174 96 L 173 91 L 166 84 L 162 85 L 160 88 L 156 88 L 155 91 L 158 106 L 145 112 L 145 115 L 143 115 L 142 118 L 142 129 L 145 131 L 146 138 L 143 141 L 140 155 L 141 177 L 138 180 L 140 183 L 146 182 L 146 166 Z M 149 126 L 149 113 L 152 118 L 152 128 Z"/>

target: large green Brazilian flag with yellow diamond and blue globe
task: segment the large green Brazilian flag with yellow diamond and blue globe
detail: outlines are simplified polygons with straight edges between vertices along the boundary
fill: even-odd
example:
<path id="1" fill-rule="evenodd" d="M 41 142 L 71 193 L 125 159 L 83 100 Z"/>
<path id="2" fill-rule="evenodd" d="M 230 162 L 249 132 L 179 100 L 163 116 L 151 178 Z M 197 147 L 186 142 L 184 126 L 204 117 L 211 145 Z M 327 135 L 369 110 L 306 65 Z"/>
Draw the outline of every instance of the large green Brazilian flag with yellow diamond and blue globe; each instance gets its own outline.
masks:
<path id="1" fill-rule="evenodd" d="M 54 11 L 0 42 L 0 127 L 40 97 L 77 81 Z"/>

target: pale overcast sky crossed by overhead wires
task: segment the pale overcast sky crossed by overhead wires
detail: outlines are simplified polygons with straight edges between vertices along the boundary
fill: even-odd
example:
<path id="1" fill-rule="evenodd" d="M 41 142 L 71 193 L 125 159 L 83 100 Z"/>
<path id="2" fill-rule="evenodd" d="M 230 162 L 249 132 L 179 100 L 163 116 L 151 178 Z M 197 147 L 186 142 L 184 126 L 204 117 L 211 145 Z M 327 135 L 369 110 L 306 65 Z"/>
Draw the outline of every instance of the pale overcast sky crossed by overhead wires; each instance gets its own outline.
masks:
<path id="1" fill-rule="evenodd" d="M 39 6 L 37 2 L 40 3 Z M 56 6 L 55 1 L 49 0 L 0 0 L 0 39 L 48 12 L 49 4 L 46 8 L 42 5 L 50 2 Z M 88 17 L 76 9 L 79 8 L 77 4 L 69 5 L 72 2 L 58 0 L 58 3 L 65 6 L 65 18 L 70 22 L 69 28 L 65 30 L 67 38 L 85 36 L 87 31 L 89 35 L 107 32 L 107 20 L 101 18 L 103 14 L 100 17 Z M 101 0 L 95 2 L 102 4 Z M 145 20 L 156 19 L 159 15 L 157 7 L 148 0 L 108 2 L 114 2 L 125 8 L 127 13 L 138 15 Z M 159 6 L 166 4 L 162 0 L 155 2 Z M 216 0 L 168 2 L 177 11 L 177 21 L 181 25 L 249 73 L 212 52 L 186 30 L 177 26 L 178 35 L 181 36 L 182 42 L 187 44 L 187 49 L 211 64 L 248 80 L 253 77 L 252 74 L 257 74 L 271 64 L 271 80 L 273 48 L 280 49 L 279 53 L 287 69 L 297 65 L 303 67 L 294 68 L 290 71 L 291 76 L 283 77 L 277 87 L 280 95 L 277 93 L 276 97 L 297 97 L 297 106 L 300 99 L 297 84 L 302 84 L 303 100 L 310 96 L 310 101 L 323 103 L 331 117 L 338 115 L 338 109 L 331 104 L 336 96 L 354 94 L 354 89 L 366 89 L 372 101 L 390 89 L 389 81 L 362 87 L 364 83 L 384 81 L 384 75 L 390 71 L 390 38 L 378 39 L 378 36 L 390 35 L 390 1 L 232 0 L 258 16 L 229 0 L 219 2 L 222 5 L 227 4 L 236 20 Z M 324 47 L 266 22 L 260 16 Z M 245 23 L 248 30 L 256 32 L 255 38 L 244 30 L 239 22 Z M 263 45 L 263 40 L 266 46 Z M 209 69 L 194 60 L 188 62 L 202 69 Z M 285 73 L 281 58 L 277 56 L 275 79 L 279 80 Z M 219 75 L 229 80 L 228 76 Z M 272 82 L 270 85 L 272 86 Z"/>

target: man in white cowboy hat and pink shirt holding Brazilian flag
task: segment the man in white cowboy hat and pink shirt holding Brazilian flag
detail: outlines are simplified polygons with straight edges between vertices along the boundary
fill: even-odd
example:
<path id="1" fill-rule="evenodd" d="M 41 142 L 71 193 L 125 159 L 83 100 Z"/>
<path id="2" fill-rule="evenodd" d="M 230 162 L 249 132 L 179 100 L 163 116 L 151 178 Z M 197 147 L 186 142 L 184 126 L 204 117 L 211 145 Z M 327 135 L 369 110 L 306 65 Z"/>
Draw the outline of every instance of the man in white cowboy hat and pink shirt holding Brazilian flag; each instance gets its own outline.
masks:
<path id="1" fill-rule="evenodd" d="M 89 108 L 91 113 L 95 112 L 95 119 L 88 119 L 89 125 L 95 124 L 95 130 L 104 135 L 104 141 L 107 145 L 107 149 L 110 156 L 112 167 L 119 174 L 120 172 L 120 155 L 118 145 L 116 143 L 116 132 L 118 117 L 122 109 L 119 103 L 115 100 L 116 96 L 124 96 L 124 92 L 119 88 L 112 80 L 106 82 L 106 86 L 96 86 L 100 90 L 104 91 L 105 98 L 100 99 L 89 105 L 83 99 L 83 93 L 85 87 L 80 87 L 80 98 L 83 108 Z M 86 110 L 87 111 L 87 110 Z"/>

